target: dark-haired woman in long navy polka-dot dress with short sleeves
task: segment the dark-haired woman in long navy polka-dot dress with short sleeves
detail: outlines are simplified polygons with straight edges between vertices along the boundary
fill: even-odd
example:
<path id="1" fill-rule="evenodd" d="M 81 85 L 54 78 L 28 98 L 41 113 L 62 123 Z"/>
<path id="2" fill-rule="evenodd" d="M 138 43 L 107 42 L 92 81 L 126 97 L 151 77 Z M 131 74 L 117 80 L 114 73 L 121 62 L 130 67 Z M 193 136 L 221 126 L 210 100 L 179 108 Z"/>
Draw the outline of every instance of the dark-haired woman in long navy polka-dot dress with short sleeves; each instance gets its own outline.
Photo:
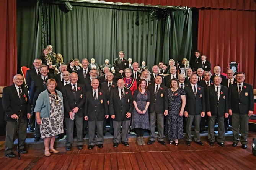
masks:
<path id="1" fill-rule="evenodd" d="M 166 116 L 166 138 L 170 144 L 178 145 L 178 139 L 183 139 L 183 113 L 186 105 L 185 91 L 179 88 L 179 81 L 171 79 L 170 87 L 166 90 L 165 105 L 168 105 Z M 175 141 L 175 142 L 174 142 Z"/>

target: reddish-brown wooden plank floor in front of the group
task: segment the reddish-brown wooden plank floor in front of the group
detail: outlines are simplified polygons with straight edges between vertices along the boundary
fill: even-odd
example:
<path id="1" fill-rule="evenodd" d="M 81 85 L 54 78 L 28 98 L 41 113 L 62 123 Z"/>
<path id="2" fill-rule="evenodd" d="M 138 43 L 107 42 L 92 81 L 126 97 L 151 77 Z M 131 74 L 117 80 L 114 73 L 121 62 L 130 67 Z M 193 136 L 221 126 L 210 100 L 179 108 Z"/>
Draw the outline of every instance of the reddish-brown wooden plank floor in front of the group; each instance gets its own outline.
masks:
<path id="1" fill-rule="evenodd" d="M 202 141 L 204 146 L 195 142 L 187 146 L 180 141 L 178 146 L 158 142 L 152 145 L 138 146 L 130 142 L 126 147 L 119 144 L 117 148 L 112 143 L 104 143 L 103 148 L 94 147 L 88 150 L 85 144 L 82 150 L 76 146 L 72 151 L 65 147 L 57 147 L 60 153 L 44 156 L 43 149 L 28 149 L 28 154 L 20 154 L 15 158 L 4 155 L 4 146 L 0 148 L 0 169 L 2 170 L 254 170 L 256 156 L 252 154 L 252 139 L 256 132 L 249 132 L 248 149 L 242 149 L 239 143 L 232 147 L 232 141 L 225 141 L 225 147 L 216 142 L 210 146 Z M 145 139 L 146 141 L 146 139 Z M 15 151 L 15 154 L 17 152 Z"/>

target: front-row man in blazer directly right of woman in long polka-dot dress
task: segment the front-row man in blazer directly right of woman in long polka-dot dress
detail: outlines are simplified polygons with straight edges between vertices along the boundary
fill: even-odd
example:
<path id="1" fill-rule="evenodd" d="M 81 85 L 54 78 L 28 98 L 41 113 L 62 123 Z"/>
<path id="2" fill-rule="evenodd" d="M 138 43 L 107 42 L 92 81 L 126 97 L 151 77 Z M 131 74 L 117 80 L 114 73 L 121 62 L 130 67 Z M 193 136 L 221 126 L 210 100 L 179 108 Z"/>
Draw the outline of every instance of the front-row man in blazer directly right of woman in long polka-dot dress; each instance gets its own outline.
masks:
<path id="1" fill-rule="evenodd" d="M 195 126 L 195 142 L 199 145 L 204 145 L 200 141 L 199 125 L 201 117 L 205 116 L 205 93 L 204 87 L 197 85 L 198 76 L 192 74 L 190 82 L 191 85 L 184 87 L 186 92 L 186 106 L 184 109 L 184 115 L 187 118 L 186 125 L 186 144 L 190 146 L 191 138 L 191 127 L 194 121 Z"/>

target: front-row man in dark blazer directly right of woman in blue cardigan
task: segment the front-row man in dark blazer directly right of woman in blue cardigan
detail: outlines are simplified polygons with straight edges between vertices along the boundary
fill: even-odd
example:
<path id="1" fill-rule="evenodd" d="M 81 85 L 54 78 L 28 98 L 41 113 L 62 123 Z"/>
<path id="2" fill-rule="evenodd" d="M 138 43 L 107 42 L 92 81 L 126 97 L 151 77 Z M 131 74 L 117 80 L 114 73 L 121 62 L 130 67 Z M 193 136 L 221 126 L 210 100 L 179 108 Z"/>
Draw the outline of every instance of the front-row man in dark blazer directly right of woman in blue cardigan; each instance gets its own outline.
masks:
<path id="1" fill-rule="evenodd" d="M 77 73 L 73 72 L 70 74 L 70 84 L 63 87 L 64 117 L 67 128 L 66 151 L 71 151 L 74 123 L 77 128 L 77 147 L 83 149 L 85 87 L 77 83 L 77 80 Z M 72 113 L 75 113 L 75 120 L 71 120 Z"/>

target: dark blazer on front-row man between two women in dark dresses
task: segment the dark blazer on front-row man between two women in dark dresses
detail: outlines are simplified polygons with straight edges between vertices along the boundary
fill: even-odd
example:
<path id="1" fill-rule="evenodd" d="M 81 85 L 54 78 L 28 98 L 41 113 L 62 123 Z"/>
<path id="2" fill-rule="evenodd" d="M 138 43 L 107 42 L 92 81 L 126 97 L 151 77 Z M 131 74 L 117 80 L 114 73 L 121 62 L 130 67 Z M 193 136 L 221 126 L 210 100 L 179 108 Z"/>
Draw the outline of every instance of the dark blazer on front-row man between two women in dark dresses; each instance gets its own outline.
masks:
<path id="1" fill-rule="evenodd" d="M 155 94 L 155 83 L 148 86 L 150 92 L 149 112 L 156 112 L 163 114 L 168 110 L 168 103 L 165 104 L 165 91 L 168 89 L 166 86 L 160 84 L 157 94 Z"/>

